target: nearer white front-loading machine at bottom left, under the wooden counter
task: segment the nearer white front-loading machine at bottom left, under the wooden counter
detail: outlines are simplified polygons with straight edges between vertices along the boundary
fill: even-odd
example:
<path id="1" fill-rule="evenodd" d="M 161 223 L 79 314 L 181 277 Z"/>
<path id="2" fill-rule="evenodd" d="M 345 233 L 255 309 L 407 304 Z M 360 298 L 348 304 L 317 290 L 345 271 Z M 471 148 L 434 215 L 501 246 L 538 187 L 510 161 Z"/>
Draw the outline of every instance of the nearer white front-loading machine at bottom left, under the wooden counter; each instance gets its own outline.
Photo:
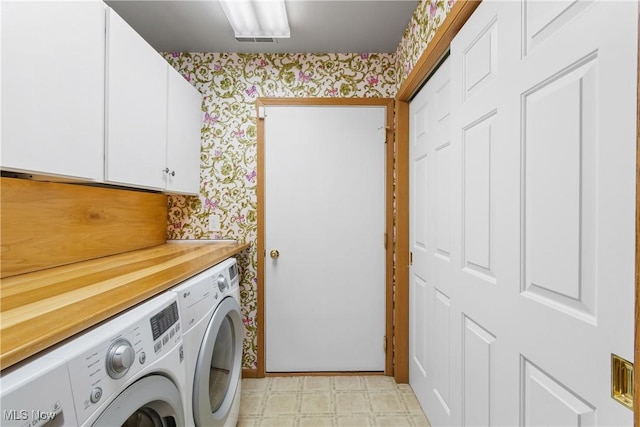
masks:
<path id="1" fill-rule="evenodd" d="M 4 370 L 0 425 L 183 426 L 185 383 L 177 298 L 166 292 Z"/>

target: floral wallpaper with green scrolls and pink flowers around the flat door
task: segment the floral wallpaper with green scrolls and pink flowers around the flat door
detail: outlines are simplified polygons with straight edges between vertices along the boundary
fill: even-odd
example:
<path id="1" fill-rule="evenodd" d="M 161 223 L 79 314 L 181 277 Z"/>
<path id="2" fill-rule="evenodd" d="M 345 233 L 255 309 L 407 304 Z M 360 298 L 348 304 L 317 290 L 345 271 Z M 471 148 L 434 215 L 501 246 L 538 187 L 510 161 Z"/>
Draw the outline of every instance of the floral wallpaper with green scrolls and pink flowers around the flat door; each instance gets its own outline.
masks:
<path id="1" fill-rule="evenodd" d="M 167 238 L 251 243 L 238 257 L 244 368 L 257 366 L 256 99 L 393 98 L 452 4 L 421 1 L 396 53 L 165 53 L 203 95 L 200 195 L 169 197 Z M 211 215 L 221 231 L 209 231 Z"/>

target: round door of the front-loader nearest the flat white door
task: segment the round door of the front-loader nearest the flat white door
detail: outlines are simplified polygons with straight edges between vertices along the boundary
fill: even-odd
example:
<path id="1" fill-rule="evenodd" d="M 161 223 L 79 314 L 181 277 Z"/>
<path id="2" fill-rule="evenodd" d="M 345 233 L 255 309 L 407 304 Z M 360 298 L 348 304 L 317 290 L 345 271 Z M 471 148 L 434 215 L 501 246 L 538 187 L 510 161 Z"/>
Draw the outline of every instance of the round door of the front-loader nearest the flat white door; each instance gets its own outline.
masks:
<path id="1" fill-rule="evenodd" d="M 242 319 L 232 297 L 213 312 L 202 340 L 193 384 L 198 426 L 222 426 L 231 412 L 242 371 Z"/>

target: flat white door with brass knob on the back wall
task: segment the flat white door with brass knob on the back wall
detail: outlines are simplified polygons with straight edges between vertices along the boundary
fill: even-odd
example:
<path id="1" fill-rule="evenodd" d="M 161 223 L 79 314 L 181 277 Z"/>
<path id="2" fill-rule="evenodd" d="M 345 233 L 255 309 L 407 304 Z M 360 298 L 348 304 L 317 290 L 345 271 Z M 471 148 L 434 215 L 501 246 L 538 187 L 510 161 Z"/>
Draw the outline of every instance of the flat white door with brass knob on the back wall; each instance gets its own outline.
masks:
<path id="1" fill-rule="evenodd" d="M 383 371 L 385 108 L 265 111 L 266 371 Z"/>

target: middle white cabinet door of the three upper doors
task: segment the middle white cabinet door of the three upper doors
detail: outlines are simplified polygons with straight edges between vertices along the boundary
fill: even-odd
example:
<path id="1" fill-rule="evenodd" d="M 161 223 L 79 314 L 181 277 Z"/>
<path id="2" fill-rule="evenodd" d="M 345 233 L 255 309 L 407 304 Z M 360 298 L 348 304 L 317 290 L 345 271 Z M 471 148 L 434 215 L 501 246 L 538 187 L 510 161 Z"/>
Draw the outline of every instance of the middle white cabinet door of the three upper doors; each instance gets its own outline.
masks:
<path id="1" fill-rule="evenodd" d="M 167 143 L 167 63 L 118 14 L 107 14 L 105 180 L 161 190 Z"/>

